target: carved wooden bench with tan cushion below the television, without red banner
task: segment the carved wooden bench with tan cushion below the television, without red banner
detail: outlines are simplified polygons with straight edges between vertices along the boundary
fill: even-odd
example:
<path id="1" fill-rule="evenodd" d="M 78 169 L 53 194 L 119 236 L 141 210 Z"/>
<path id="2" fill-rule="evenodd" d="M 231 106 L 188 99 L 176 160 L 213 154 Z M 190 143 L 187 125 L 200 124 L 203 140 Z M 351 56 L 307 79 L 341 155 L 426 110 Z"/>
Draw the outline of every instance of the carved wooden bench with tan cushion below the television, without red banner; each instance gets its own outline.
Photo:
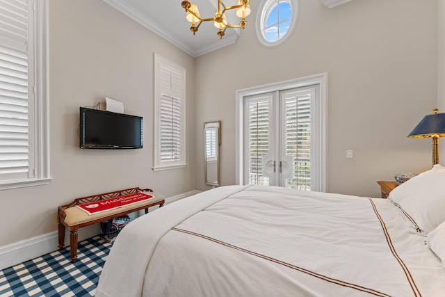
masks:
<path id="1" fill-rule="evenodd" d="M 102 213 L 93 215 L 88 215 L 86 211 L 76 207 L 76 205 L 117 198 L 123 195 L 139 192 L 150 192 L 150 195 L 153 195 L 154 197 L 135 204 L 127 205 L 125 207 L 111 209 L 109 211 L 104 211 Z M 133 211 L 138 211 L 141 209 L 145 209 L 145 214 L 147 214 L 149 207 L 153 207 L 155 205 L 162 207 L 164 202 L 165 200 L 162 195 L 153 193 L 153 191 L 149 188 L 127 188 L 120 191 L 76 198 L 74 201 L 58 207 L 58 248 L 61 250 L 65 246 L 65 228 L 68 228 L 68 230 L 70 230 L 71 261 L 74 263 L 77 259 L 77 230 L 79 230 L 79 228 L 101 223 L 105 220 L 111 220 L 112 218 L 118 218 L 119 216 L 124 216 Z"/>

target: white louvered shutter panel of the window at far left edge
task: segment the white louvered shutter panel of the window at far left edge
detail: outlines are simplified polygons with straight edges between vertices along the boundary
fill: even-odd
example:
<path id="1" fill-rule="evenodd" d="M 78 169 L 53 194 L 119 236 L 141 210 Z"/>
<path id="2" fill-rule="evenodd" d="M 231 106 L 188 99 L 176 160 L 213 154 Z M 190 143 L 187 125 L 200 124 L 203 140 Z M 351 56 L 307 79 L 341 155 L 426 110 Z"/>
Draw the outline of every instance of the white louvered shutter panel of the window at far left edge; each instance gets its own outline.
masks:
<path id="1" fill-rule="evenodd" d="M 0 0 L 0 179 L 27 178 L 29 172 L 31 20 L 28 1 Z"/>

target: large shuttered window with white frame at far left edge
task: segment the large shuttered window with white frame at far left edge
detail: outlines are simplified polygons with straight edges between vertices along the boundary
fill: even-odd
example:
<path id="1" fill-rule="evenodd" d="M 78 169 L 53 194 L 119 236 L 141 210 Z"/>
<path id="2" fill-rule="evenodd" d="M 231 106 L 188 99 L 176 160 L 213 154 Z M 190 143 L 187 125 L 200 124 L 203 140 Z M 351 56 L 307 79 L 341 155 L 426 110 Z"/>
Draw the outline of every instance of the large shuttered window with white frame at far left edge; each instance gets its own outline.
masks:
<path id="1" fill-rule="evenodd" d="M 45 36 L 35 28 L 44 30 L 46 1 L 39 3 L 0 0 L 0 188 L 29 185 L 48 175 L 42 120 L 46 77 L 35 77 L 46 73 L 37 63 L 45 60 Z M 37 21 L 42 24 L 36 26 Z"/>

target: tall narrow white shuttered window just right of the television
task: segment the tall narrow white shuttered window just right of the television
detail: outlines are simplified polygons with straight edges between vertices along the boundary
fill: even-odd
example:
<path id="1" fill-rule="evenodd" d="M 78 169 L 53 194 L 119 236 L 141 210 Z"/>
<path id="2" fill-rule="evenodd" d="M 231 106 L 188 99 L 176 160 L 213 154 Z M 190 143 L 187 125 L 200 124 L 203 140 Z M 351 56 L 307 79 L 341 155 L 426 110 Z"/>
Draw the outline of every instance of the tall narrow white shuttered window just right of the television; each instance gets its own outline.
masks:
<path id="1" fill-rule="evenodd" d="M 154 170 L 185 166 L 185 69 L 154 56 Z"/>

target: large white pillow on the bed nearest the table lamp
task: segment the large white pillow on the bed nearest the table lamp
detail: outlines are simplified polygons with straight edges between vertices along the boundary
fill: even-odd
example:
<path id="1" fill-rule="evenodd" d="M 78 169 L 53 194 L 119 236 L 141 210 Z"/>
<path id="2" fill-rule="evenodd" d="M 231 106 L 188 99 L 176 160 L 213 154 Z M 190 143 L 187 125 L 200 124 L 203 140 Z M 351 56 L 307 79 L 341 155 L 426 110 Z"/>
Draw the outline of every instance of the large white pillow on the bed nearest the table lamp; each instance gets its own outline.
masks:
<path id="1" fill-rule="evenodd" d="M 423 232 L 431 232 L 445 221 L 445 167 L 407 180 L 389 193 L 389 200 L 399 204 Z"/>

